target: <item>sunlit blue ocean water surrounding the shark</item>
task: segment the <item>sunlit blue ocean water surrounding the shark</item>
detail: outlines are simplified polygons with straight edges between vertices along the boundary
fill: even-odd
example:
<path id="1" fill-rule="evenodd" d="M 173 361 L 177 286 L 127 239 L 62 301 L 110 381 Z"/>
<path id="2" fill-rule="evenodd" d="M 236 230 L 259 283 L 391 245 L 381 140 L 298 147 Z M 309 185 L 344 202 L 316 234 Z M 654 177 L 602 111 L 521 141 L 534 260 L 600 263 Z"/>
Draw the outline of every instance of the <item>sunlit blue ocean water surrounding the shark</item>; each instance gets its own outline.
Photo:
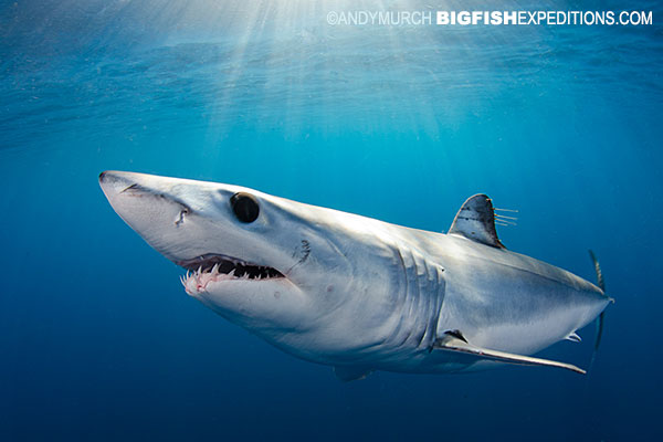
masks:
<path id="1" fill-rule="evenodd" d="M 659 440 L 663 34 L 329 25 L 460 2 L 0 4 L 0 439 Z M 617 299 L 588 376 L 509 367 L 341 383 L 187 296 L 113 212 L 118 169 L 444 231 L 476 192 L 512 250 Z M 587 367 L 583 343 L 541 352 Z"/>

